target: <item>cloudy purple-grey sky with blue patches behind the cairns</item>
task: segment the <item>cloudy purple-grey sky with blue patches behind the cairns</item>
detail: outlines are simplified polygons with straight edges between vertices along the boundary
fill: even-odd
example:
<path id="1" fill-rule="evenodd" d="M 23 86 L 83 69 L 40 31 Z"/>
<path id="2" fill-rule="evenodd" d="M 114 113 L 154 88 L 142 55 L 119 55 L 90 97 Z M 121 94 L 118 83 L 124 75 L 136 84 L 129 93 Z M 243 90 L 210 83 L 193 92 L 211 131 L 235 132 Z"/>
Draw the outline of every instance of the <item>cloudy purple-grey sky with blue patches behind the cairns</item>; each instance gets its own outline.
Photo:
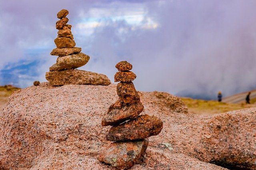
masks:
<path id="1" fill-rule="evenodd" d="M 46 81 L 56 62 L 56 14 L 69 11 L 79 69 L 126 60 L 139 91 L 216 99 L 256 89 L 255 0 L 0 0 L 0 85 Z"/>

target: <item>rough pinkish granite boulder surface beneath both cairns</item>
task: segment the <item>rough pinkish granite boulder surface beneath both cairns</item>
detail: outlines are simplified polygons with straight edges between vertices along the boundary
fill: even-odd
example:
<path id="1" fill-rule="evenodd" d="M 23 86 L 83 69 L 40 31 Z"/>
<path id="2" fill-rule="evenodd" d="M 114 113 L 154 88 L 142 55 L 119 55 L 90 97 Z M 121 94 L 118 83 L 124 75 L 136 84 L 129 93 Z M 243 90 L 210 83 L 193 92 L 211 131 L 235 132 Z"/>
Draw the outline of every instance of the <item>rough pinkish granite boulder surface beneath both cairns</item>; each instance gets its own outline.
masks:
<path id="1" fill-rule="evenodd" d="M 211 163 L 256 169 L 256 108 L 198 115 L 168 93 L 139 95 L 142 114 L 164 125 L 149 138 L 144 162 L 132 170 L 225 169 Z M 41 83 L 14 92 L 0 113 L 0 168 L 114 169 L 98 155 L 110 144 L 101 118 L 117 98 L 114 84 Z"/>

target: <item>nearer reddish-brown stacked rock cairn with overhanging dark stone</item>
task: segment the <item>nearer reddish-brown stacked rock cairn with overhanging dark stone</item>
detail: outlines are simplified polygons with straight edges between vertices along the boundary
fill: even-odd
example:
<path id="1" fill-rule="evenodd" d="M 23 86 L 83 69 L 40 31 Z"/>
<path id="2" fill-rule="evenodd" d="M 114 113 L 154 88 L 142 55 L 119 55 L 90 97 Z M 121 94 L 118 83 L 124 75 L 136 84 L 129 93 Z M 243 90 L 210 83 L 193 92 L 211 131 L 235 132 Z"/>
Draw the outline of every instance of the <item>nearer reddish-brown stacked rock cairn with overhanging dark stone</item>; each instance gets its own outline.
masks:
<path id="1" fill-rule="evenodd" d="M 144 106 L 132 81 L 136 75 L 129 71 L 132 65 L 127 61 L 116 64 L 118 72 L 114 76 L 119 99 L 112 104 L 102 118 L 102 126 L 112 126 L 106 140 L 113 141 L 100 154 L 100 162 L 111 164 L 118 169 L 126 169 L 143 161 L 148 147 L 148 137 L 158 135 L 163 122 L 155 116 L 140 115 Z"/>

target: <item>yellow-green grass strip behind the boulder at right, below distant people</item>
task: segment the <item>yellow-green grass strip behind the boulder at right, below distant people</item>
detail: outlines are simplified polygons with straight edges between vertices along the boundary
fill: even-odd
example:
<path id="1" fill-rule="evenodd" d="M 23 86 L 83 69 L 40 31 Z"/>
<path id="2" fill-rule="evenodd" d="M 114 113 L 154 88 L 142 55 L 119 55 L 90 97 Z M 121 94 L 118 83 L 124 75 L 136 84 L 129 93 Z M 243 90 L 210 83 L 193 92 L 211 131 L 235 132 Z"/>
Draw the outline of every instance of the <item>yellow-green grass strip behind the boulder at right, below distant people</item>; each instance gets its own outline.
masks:
<path id="1" fill-rule="evenodd" d="M 205 100 L 191 99 L 191 98 L 181 98 L 181 99 L 188 106 L 189 112 L 198 113 L 198 114 L 225 113 L 228 111 L 234 111 L 234 110 L 244 109 L 248 107 L 255 107 L 255 105 L 248 105 L 245 103 L 233 104 L 233 103 L 223 103 L 223 102 L 212 101 L 212 100 L 205 101 Z"/>

